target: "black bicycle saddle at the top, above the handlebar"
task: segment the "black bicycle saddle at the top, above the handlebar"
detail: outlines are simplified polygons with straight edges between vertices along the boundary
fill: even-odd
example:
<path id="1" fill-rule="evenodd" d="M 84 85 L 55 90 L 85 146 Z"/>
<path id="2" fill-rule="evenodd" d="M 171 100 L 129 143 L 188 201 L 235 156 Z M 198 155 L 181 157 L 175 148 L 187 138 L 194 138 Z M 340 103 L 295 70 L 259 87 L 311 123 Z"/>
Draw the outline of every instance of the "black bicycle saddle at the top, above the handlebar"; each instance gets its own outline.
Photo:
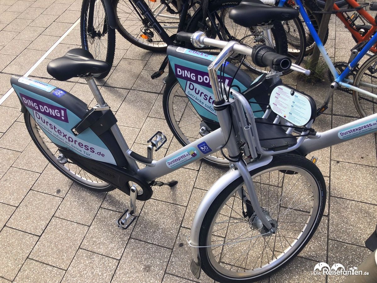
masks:
<path id="1" fill-rule="evenodd" d="M 287 21 L 298 17 L 299 11 L 290 7 L 265 5 L 259 0 L 243 0 L 229 14 L 234 23 L 250 28 L 268 25 L 274 20 Z"/>

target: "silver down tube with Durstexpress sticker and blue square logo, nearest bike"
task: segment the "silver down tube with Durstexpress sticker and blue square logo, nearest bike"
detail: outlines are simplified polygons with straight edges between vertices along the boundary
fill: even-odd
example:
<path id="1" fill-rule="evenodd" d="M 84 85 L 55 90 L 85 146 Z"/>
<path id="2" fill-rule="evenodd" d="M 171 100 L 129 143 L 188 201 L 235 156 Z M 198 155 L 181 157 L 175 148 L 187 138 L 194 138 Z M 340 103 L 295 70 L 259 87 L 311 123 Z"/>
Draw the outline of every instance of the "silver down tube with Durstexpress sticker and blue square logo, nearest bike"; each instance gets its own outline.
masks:
<path id="1" fill-rule="evenodd" d="M 225 138 L 220 128 L 158 160 L 155 166 L 146 166 L 140 169 L 138 174 L 147 181 L 156 180 L 156 178 L 219 151 L 224 144 Z"/>

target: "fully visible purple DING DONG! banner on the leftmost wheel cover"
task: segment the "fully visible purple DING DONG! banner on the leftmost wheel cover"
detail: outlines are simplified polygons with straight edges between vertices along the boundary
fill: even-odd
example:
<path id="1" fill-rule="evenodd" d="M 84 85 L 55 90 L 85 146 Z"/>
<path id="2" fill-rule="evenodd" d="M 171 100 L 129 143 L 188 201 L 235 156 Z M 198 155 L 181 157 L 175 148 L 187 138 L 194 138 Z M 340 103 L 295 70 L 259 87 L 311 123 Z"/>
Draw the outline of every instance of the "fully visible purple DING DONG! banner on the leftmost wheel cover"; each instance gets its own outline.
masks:
<path id="1" fill-rule="evenodd" d="M 67 109 L 41 102 L 22 93 L 20 93 L 20 96 L 26 107 L 61 122 L 68 123 Z"/>

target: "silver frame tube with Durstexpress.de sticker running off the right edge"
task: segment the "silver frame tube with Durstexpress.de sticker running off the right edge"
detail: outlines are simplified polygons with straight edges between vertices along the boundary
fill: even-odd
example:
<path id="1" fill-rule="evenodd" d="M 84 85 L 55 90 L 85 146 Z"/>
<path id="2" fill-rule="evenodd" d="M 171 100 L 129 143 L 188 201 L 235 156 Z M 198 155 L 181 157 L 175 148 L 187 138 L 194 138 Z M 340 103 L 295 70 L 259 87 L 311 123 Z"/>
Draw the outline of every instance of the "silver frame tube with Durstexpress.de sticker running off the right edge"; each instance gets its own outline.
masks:
<path id="1" fill-rule="evenodd" d="M 358 119 L 325 132 L 318 132 L 318 138 L 307 138 L 299 147 L 299 151 L 302 154 L 308 154 L 317 149 L 327 148 L 374 132 L 377 132 L 377 114 Z"/>

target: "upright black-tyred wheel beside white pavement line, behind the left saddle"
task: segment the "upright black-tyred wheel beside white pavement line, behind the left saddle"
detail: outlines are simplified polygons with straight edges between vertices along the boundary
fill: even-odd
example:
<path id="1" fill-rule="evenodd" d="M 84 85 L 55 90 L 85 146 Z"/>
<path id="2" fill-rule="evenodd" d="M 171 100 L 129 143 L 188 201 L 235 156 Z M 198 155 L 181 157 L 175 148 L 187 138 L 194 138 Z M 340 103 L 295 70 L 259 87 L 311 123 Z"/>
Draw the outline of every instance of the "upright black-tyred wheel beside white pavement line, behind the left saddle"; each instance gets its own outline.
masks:
<path id="1" fill-rule="evenodd" d="M 92 7 L 90 4 L 92 4 Z M 95 28 L 93 27 L 94 30 L 89 31 L 88 18 L 91 8 L 93 8 L 93 19 L 95 18 L 95 14 L 97 15 L 96 19 L 98 20 L 98 25 L 93 23 Z M 93 22 L 97 20 L 93 20 Z M 81 46 L 88 50 L 95 59 L 106 61 L 109 63 L 109 65 L 113 65 L 115 54 L 115 30 L 110 28 L 110 26 L 106 24 L 107 22 L 107 12 L 103 0 L 83 0 L 80 19 Z M 103 26 L 101 26 L 101 23 L 103 23 Z M 106 35 L 107 40 L 104 40 Z M 103 41 L 106 42 L 103 43 Z M 98 45 L 96 46 L 97 42 Z M 103 52 L 103 46 L 106 46 L 106 52 Z M 95 75 L 95 77 L 98 79 L 103 79 L 109 74 L 109 72 L 110 70 L 102 74 Z"/>

